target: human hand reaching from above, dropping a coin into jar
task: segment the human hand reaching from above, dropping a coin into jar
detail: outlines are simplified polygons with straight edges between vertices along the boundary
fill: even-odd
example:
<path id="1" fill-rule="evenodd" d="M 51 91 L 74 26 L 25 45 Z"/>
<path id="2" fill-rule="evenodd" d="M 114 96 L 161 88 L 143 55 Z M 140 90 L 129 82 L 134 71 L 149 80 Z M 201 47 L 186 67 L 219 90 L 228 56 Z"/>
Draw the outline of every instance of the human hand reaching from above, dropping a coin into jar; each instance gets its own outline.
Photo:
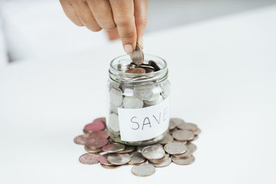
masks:
<path id="1" fill-rule="evenodd" d="M 148 0 L 59 0 L 66 16 L 93 32 L 117 28 L 124 50 L 130 54 L 136 43 L 143 48 Z"/>

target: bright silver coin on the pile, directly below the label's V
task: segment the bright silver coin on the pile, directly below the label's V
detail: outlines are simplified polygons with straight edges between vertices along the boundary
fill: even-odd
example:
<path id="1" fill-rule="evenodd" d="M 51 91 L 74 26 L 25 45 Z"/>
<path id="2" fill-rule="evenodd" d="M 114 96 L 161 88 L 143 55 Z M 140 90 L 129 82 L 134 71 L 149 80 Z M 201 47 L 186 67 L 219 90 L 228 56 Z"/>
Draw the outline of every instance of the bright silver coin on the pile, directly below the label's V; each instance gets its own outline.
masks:
<path id="1" fill-rule="evenodd" d="M 142 154 L 146 159 L 157 160 L 162 159 L 165 156 L 165 151 L 163 147 L 160 147 L 158 145 L 149 145 L 147 147 L 144 147 L 144 149 L 142 150 Z"/>

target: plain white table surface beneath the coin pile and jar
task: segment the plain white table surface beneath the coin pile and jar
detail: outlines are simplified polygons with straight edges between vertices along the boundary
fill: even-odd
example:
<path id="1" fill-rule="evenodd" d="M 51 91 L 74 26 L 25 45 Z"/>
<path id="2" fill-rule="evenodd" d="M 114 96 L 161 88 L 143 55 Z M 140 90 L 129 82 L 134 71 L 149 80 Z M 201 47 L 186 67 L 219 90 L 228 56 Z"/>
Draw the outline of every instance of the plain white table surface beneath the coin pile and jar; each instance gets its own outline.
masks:
<path id="1" fill-rule="evenodd" d="M 118 42 L 77 56 L 21 61 L 0 71 L 0 183 L 275 183 L 276 6 L 146 35 L 168 61 L 171 116 L 202 133 L 192 165 L 83 165 L 72 139 L 106 112 Z M 73 37 L 73 35 L 72 35 Z"/>

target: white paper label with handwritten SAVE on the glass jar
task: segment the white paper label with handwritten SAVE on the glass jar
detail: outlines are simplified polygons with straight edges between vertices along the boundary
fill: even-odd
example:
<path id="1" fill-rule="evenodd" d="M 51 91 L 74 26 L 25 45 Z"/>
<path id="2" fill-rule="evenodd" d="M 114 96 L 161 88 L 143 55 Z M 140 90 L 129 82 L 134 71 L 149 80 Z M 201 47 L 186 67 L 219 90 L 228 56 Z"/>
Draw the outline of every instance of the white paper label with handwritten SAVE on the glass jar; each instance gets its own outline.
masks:
<path id="1" fill-rule="evenodd" d="M 163 134 L 170 121 L 168 98 L 147 108 L 118 108 L 122 141 L 144 141 Z"/>

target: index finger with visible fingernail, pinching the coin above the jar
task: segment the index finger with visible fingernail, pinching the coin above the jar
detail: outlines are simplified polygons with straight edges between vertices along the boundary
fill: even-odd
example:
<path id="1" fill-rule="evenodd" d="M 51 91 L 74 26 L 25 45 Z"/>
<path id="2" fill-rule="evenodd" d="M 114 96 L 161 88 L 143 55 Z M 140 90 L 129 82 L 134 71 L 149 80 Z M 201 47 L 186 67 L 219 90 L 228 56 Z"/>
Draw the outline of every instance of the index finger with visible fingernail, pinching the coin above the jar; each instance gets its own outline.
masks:
<path id="1" fill-rule="evenodd" d="M 134 3 L 130 0 L 110 0 L 110 6 L 124 50 L 131 54 L 135 50 L 137 41 Z"/>

